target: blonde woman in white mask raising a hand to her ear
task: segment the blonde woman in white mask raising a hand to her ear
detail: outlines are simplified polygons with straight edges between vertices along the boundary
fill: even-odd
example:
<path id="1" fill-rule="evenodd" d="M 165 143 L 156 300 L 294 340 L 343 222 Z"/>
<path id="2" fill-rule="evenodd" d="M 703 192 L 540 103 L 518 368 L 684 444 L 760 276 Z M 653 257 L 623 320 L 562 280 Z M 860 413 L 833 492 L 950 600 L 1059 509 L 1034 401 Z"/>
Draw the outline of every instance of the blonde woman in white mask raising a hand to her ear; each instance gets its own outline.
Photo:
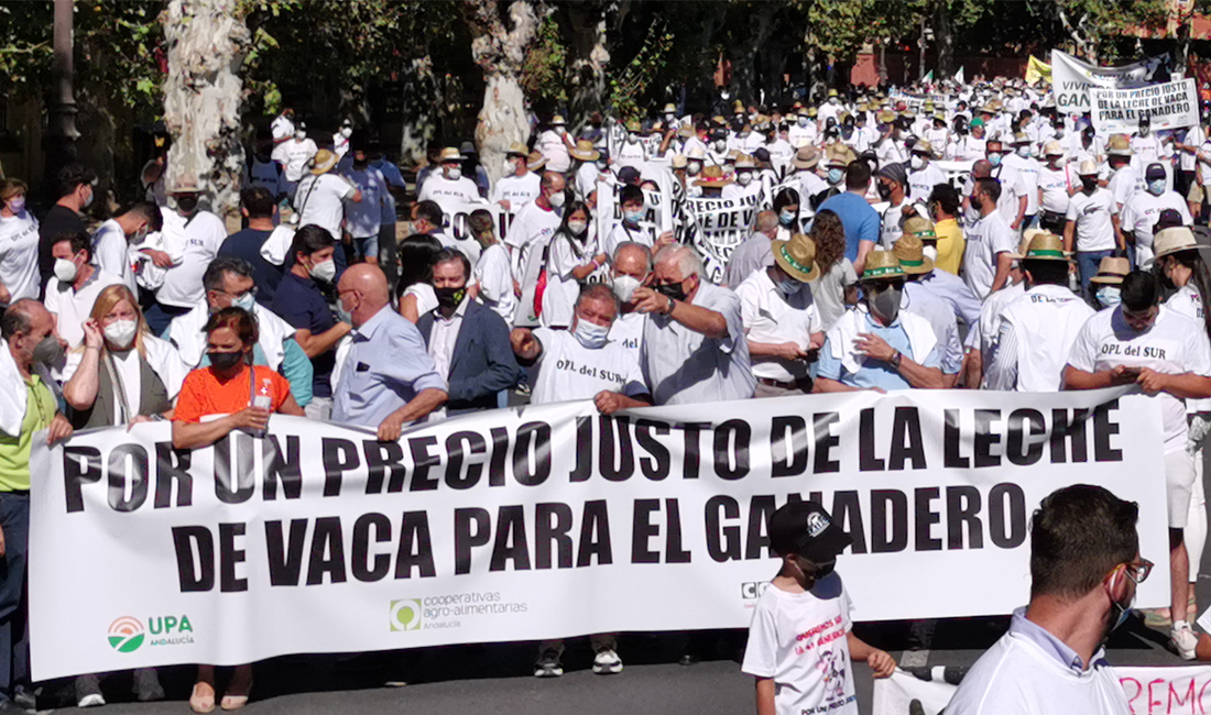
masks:
<path id="1" fill-rule="evenodd" d="M 63 398 L 76 429 L 172 416 L 189 365 L 171 342 L 151 335 L 130 288 L 102 290 L 84 334 L 64 368 Z"/>

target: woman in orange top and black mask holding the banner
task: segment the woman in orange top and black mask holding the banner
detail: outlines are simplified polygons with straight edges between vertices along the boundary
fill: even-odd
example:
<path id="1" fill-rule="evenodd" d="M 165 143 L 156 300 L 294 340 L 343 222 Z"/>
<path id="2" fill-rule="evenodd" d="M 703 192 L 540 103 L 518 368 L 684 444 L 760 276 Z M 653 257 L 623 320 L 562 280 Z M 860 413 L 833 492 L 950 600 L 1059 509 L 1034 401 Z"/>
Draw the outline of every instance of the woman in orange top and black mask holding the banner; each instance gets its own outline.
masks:
<path id="1" fill-rule="evenodd" d="M 211 364 L 185 376 L 172 415 L 172 445 L 177 449 L 210 446 L 233 429 L 262 434 L 269 415 L 303 416 L 303 408 L 291 396 L 285 377 L 264 365 L 252 365 L 257 345 L 257 319 L 239 307 L 223 309 L 206 323 Z M 202 422 L 206 415 L 226 415 Z M 248 702 L 252 665 L 237 665 L 226 693 L 224 710 L 237 710 Z M 197 682 L 189 697 L 195 713 L 214 710 L 214 667 L 199 665 Z"/>

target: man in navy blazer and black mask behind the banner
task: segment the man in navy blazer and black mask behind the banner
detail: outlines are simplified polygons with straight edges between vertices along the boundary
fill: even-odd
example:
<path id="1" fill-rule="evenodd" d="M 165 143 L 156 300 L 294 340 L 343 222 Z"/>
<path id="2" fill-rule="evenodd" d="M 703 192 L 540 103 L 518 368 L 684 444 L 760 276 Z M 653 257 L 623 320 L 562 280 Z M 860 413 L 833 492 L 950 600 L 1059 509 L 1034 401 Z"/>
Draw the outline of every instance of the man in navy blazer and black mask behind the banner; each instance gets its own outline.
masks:
<path id="1" fill-rule="evenodd" d="M 466 255 L 443 248 L 434 265 L 437 307 L 417 321 L 437 373 L 449 384 L 449 415 L 499 406 L 498 394 L 521 376 L 509 325 L 495 311 L 467 298 L 470 277 Z"/>

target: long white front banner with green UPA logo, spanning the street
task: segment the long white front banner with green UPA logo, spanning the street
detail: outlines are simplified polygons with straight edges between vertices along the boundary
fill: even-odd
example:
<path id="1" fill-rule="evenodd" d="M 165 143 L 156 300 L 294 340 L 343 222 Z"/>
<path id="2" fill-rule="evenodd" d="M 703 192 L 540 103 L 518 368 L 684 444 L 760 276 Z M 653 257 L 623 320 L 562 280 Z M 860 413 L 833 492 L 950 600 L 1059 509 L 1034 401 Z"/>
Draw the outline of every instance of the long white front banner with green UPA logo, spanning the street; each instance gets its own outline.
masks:
<path id="1" fill-rule="evenodd" d="M 266 438 L 191 451 L 160 422 L 35 438 L 34 677 L 742 628 L 788 498 L 853 536 L 838 572 L 857 619 L 976 616 L 1026 602 L 1038 502 L 1096 482 L 1140 503 L 1157 569 L 1137 605 L 1158 606 L 1159 408 L 1121 394 L 855 392 L 610 417 L 584 400 L 391 443 L 276 415 Z"/>

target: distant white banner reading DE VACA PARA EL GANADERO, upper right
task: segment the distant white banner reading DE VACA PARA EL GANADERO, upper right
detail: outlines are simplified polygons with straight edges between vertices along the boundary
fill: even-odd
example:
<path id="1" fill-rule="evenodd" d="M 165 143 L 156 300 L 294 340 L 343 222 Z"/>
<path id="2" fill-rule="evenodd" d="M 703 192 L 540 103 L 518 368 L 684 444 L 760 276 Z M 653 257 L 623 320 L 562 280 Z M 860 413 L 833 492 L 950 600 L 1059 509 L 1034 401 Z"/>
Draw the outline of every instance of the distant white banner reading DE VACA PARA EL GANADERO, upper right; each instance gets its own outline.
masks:
<path id="1" fill-rule="evenodd" d="M 1149 117 L 1153 129 L 1199 123 L 1199 88 L 1194 80 L 1135 90 L 1090 87 L 1089 92 L 1094 99 L 1094 126 L 1102 132 L 1135 132 L 1141 117 Z"/>

